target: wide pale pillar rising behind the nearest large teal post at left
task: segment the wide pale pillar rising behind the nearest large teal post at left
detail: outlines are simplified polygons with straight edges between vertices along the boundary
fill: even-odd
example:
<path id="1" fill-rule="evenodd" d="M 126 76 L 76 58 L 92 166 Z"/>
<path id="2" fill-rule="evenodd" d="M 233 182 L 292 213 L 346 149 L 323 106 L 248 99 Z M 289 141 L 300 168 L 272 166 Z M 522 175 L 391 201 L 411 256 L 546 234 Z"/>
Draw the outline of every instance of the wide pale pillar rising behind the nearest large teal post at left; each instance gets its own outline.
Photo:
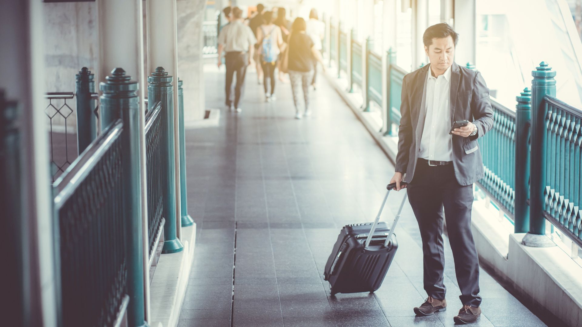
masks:
<path id="1" fill-rule="evenodd" d="M 142 0 L 100 0 L 97 1 L 99 26 L 99 65 L 98 80 L 105 81 L 116 67 L 122 67 L 125 73 L 137 81 L 137 97 L 139 105 L 139 130 L 145 131 L 144 94 L 147 94 L 144 83 L 144 52 L 143 52 L 143 5 Z M 147 185 L 145 178 L 145 133 L 140 133 L 141 147 L 141 184 Z M 147 196 L 145 187 L 141 188 L 142 233 L 144 242 L 147 240 Z M 147 247 L 144 247 L 147 248 Z M 144 268 L 147 267 L 148 254 L 144 251 Z M 144 307 L 145 321 L 150 312 L 149 269 L 144 269 Z M 132 317 L 130 317 L 132 319 Z M 138 317 L 137 320 L 141 320 Z M 130 325 L 132 322 L 130 321 Z"/>

